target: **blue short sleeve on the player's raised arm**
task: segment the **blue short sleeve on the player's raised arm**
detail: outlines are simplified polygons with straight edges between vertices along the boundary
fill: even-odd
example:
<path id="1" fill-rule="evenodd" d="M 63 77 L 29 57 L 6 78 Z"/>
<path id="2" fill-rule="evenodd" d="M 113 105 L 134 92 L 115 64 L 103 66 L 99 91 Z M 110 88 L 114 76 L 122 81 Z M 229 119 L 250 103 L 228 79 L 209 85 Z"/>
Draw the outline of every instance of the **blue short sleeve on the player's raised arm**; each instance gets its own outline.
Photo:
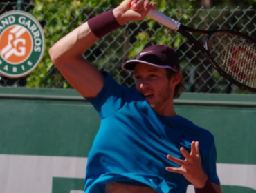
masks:
<path id="1" fill-rule="evenodd" d="M 102 72 L 104 75 L 104 85 L 98 96 L 86 98 L 101 119 L 113 114 L 122 107 L 122 96 L 124 95 L 122 86 L 119 85 L 109 73 Z"/>

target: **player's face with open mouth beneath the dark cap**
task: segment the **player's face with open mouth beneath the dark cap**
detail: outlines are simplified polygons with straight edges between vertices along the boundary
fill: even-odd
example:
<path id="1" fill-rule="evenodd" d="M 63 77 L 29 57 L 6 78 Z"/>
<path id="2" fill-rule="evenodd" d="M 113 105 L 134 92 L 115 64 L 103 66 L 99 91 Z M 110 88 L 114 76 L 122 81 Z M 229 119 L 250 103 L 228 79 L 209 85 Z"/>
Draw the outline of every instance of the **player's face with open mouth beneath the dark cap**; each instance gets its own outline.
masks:
<path id="1" fill-rule="evenodd" d="M 174 88 L 172 78 L 168 79 L 164 68 L 138 63 L 134 69 L 136 89 L 158 114 L 164 114 L 173 104 Z"/>

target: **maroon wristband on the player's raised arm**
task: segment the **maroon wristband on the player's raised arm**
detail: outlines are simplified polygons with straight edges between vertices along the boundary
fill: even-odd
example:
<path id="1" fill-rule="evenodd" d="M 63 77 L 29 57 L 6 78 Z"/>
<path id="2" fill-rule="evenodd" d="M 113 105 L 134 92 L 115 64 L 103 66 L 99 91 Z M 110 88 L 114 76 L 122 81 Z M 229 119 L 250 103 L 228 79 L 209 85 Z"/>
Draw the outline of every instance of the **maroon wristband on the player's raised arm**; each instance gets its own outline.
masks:
<path id="1" fill-rule="evenodd" d="M 89 19 L 87 23 L 93 34 L 98 38 L 120 27 L 113 16 L 113 9 Z"/>

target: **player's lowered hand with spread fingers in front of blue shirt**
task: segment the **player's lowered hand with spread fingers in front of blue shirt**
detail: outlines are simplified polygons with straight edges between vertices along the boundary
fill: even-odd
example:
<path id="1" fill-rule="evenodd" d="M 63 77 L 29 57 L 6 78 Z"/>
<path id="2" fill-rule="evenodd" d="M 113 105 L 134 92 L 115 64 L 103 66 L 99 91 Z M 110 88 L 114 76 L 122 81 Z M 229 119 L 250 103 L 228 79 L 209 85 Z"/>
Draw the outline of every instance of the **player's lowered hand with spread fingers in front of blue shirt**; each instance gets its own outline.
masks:
<path id="1" fill-rule="evenodd" d="M 183 174 L 185 179 L 190 181 L 196 190 L 196 193 L 221 193 L 220 185 L 208 181 L 208 176 L 203 171 L 201 156 L 199 152 L 199 142 L 192 141 L 191 152 L 181 148 L 184 160 L 177 159 L 174 156 L 167 155 L 167 159 L 181 165 L 181 167 L 166 167 L 168 172 Z"/>

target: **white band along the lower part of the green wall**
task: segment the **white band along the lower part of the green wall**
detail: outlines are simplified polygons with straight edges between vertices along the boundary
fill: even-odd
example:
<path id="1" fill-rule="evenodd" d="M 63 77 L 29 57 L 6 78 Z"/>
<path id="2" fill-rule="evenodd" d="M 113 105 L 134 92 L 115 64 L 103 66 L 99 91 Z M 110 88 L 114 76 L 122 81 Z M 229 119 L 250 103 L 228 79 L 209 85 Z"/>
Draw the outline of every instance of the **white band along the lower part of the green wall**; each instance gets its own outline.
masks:
<path id="1" fill-rule="evenodd" d="M 53 177 L 84 179 L 86 163 L 78 157 L 0 154 L 0 192 L 51 193 Z M 217 163 L 217 171 L 222 185 L 256 190 L 256 165 Z M 190 185 L 187 193 L 192 192 Z"/>

